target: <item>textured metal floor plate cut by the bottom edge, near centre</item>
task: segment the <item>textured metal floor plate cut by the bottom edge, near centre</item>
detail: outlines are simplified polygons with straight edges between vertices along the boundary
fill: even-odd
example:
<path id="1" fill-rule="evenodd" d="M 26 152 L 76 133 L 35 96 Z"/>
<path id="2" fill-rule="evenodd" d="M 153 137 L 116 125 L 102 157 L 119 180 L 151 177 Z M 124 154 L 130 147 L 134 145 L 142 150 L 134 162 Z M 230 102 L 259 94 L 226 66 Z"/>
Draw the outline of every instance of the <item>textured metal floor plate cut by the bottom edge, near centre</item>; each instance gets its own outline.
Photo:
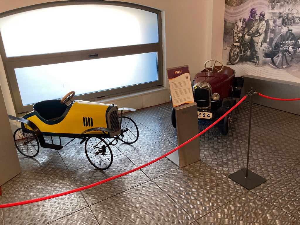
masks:
<path id="1" fill-rule="evenodd" d="M 91 209 L 101 225 L 178 225 L 194 221 L 152 181 L 92 205 Z"/>

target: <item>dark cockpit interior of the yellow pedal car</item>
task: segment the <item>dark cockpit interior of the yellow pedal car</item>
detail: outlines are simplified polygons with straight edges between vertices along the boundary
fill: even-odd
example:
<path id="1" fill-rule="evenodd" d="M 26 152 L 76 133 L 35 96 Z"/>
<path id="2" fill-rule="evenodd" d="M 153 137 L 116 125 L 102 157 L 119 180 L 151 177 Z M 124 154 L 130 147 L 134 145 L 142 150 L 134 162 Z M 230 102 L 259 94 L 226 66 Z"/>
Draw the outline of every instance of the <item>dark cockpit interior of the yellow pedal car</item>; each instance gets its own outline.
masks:
<path id="1" fill-rule="evenodd" d="M 33 105 L 33 110 L 45 120 L 55 120 L 61 117 L 67 106 L 61 104 L 59 99 L 41 101 Z"/>

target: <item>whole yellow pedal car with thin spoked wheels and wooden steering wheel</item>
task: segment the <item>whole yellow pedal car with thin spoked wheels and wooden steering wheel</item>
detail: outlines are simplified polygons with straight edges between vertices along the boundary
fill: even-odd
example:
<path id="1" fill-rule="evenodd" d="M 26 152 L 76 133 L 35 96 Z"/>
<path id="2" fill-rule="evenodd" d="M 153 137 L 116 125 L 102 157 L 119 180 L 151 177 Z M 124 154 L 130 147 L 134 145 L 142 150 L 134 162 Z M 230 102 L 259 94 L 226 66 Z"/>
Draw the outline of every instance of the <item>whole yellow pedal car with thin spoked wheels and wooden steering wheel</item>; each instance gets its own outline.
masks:
<path id="1" fill-rule="evenodd" d="M 72 100 L 75 91 L 69 92 L 61 100 L 41 101 L 33 105 L 33 111 L 22 118 L 9 116 L 9 119 L 21 122 L 21 128 L 13 134 L 17 150 L 26 157 L 38 155 L 40 146 L 60 150 L 74 139 L 85 142 L 85 155 L 88 161 L 101 170 L 108 169 L 113 163 L 110 146 L 118 140 L 132 144 L 139 138 L 137 124 L 131 118 L 123 116 L 123 110 L 115 104 L 102 104 L 81 100 Z M 69 105 L 67 102 L 71 101 Z M 119 116 L 118 111 L 121 111 Z M 50 136 L 52 143 L 46 143 Z M 60 145 L 53 143 L 53 136 L 59 137 Z M 64 146 L 61 137 L 73 138 Z M 105 139 L 109 139 L 105 141 Z"/>

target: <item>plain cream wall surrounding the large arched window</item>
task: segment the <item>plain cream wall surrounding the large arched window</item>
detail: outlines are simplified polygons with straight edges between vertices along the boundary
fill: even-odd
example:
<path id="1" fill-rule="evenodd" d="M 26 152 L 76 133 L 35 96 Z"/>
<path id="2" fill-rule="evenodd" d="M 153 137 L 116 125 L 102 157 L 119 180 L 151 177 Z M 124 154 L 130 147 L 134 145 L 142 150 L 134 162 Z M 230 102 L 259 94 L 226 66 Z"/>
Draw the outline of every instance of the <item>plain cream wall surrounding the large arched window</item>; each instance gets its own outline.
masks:
<path id="1" fill-rule="evenodd" d="M 55 0 L 54 0 L 55 1 Z M 223 43 L 223 18 L 225 0 L 119 0 L 142 4 L 162 10 L 164 86 L 168 87 L 166 68 L 189 65 L 191 79 L 203 69 L 207 59 L 221 60 Z M 33 4 L 49 2 L 45 0 L 0 1 L 0 12 Z M 220 32 L 219 32 L 220 31 Z M 215 32 L 215 35 L 212 35 Z M 213 37 L 213 38 L 212 38 Z M 219 46 L 220 45 L 220 46 Z M 14 115 L 3 64 L 0 62 L 0 84 L 8 114 Z M 147 92 L 138 97 L 127 96 L 120 101 L 120 107 L 143 108 L 168 101 L 168 90 L 159 94 Z M 118 101 L 114 98 L 114 103 Z M 107 101 L 106 101 L 107 102 Z"/>

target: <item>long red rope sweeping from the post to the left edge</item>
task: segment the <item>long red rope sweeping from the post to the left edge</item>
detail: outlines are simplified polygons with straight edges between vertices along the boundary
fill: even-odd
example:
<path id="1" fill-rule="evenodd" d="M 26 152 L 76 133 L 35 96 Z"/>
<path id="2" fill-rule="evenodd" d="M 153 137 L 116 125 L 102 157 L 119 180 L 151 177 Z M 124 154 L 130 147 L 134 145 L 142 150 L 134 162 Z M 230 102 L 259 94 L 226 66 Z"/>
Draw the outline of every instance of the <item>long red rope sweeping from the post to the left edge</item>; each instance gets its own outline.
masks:
<path id="1" fill-rule="evenodd" d="M 194 139 L 196 139 L 200 135 L 204 134 L 206 131 L 208 131 L 210 128 L 212 128 L 214 125 L 216 125 L 218 122 L 220 122 L 220 120 L 222 120 L 227 114 L 229 114 L 232 110 L 234 110 L 239 104 L 241 104 L 246 98 L 247 98 L 247 95 L 244 96 L 244 98 L 242 98 L 237 104 L 235 104 L 223 116 L 221 116 L 219 119 L 217 119 L 209 127 L 205 128 L 199 134 L 197 134 L 196 136 L 192 137 L 190 140 L 187 140 L 186 142 L 182 143 L 181 145 L 179 145 L 175 149 L 171 150 L 170 152 L 167 152 L 166 154 L 160 156 L 159 158 L 150 161 L 149 163 L 146 163 L 146 164 L 144 164 L 144 165 L 142 165 L 140 167 L 134 168 L 132 170 L 129 170 L 129 171 L 124 172 L 124 173 L 121 173 L 119 175 L 112 176 L 112 177 L 107 178 L 105 180 L 96 182 L 94 184 L 89 184 L 89 185 L 84 186 L 84 187 L 79 187 L 79 188 L 76 188 L 76 189 L 73 189 L 73 190 L 69 190 L 69 191 L 66 191 L 66 192 L 62 192 L 62 193 L 58 193 L 58 194 L 53 194 L 53 195 L 49 195 L 49 196 L 45 196 L 45 197 L 41 197 L 41 198 L 37 198 L 37 199 L 31 199 L 31 200 L 26 200 L 26 201 L 22 201 L 22 202 L 13 202 L 13 203 L 2 204 L 2 205 L 0 205 L 0 208 L 7 208 L 7 207 L 12 207 L 12 206 L 17 206 L 17 205 L 25 205 L 25 204 L 29 204 L 29 203 L 40 202 L 40 201 L 44 201 L 44 200 L 47 200 L 47 199 L 52 199 L 52 198 L 60 197 L 60 196 L 63 196 L 63 195 L 71 194 L 71 193 L 74 193 L 74 192 L 77 192 L 77 191 L 81 191 L 81 190 L 85 190 L 85 189 L 88 189 L 88 188 L 91 188 L 91 187 L 95 187 L 95 186 L 97 186 L 99 184 L 103 184 L 103 183 L 109 182 L 111 180 L 117 179 L 117 178 L 125 176 L 125 175 L 127 175 L 129 173 L 133 173 L 133 172 L 135 172 L 137 170 L 140 170 L 140 169 L 142 169 L 142 168 L 144 168 L 146 166 L 149 166 L 150 164 L 155 163 L 158 160 L 161 160 L 162 158 L 165 158 L 166 156 L 170 155 L 171 153 L 177 151 L 178 149 L 182 148 L 186 144 L 190 143 L 191 141 L 193 141 Z"/>

